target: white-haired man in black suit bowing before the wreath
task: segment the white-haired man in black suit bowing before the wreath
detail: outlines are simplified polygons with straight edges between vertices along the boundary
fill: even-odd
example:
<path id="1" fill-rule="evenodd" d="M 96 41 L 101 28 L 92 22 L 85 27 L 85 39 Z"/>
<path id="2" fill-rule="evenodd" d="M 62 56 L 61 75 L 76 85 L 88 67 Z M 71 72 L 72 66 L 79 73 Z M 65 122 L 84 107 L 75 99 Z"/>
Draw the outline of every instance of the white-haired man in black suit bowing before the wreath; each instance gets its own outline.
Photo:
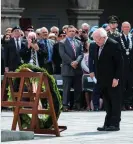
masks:
<path id="1" fill-rule="evenodd" d="M 123 59 L 119 43 L 107 37 L 103 28 L 93 33 L 96 42 L 95 70 L 97 84 L 103 96 L 106 116 L 98 131 L 118 131 L 121 120 L 121 82 Z"/>

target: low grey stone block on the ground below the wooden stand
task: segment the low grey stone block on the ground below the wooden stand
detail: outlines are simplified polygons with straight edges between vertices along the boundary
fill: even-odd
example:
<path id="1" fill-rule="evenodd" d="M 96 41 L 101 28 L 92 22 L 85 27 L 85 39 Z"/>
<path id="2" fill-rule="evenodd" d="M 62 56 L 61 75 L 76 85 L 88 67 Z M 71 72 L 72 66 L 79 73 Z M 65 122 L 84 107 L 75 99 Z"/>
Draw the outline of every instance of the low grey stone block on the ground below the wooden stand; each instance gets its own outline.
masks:
<path id="1" fill-rule="evenodd" d="M 34 139 L 34 132 L 1 130 L 1 142 Z"/>

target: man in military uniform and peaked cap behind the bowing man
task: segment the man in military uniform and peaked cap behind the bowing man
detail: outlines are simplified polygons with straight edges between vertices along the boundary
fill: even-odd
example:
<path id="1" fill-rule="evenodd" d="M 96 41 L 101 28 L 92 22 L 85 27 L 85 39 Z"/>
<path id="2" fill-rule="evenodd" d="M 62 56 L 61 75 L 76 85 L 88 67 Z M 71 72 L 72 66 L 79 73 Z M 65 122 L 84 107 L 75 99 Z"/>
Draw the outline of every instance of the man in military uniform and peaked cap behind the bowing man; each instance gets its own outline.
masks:
<path id="1" fill-rule="evenodd" d="M 118 17 L 117 16 L 109 16 L 108 20 L 107 20 L 109 27 L 110 27 L 110 31 L 108 32 L 108 37 L 112 38 L 112 39 L 116 39 L 117 37 L 119 37 L 120 33 L 118 32 Z"/>

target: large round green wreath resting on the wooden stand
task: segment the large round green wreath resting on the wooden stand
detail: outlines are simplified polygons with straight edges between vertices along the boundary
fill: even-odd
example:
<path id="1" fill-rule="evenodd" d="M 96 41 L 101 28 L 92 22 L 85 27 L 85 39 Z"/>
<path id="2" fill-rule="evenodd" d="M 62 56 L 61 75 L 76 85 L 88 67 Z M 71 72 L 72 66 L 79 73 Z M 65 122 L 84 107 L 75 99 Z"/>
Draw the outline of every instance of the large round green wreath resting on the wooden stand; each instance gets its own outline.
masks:
<path id="1" fill-rule="evenodd" d="M 47 78 L 48 78 L 48 82 L 49 82 L 49 87 L 50 87 L 50 91 L 51 91 L 51 95 L 52 95 L 52 99 L 53 99 L 53 105 L 54 105 L 54 110 L 55 110 L 55 114 L 56 114 L 56 118 L 58 119 L 62 110 L 62 98 L 60 95 L 60 92 L 57 88 L 55 79 L 52 75 L 48 74 L 48 72 L 44 69 L 44 68 L 40 68 L 37 66 L 33 66 L 31 64 L 23 64 L 21 65 L 16 72 L 20 72 L 22 69 L 28 68 L 33 72 L 43 72 Z M 14 82 L 17 80 L 14 79 Z M 37 79 L 30 79 L 31 82 L 35 82 L 38 83 Z M 45 85 L 42 85 L 42 89 L 45 89 Z M 11 96 L 11 92 L 10 92 L 10 88 L 8 88 L 8 100 L 12 100 L 12 96 Z M 49 109 L 49 105 L 46 104 L 47 102 L 40 100 L 42 105 L 46 105 L 47 107 L 45 107 L 46 109 Z M 31 118 L 32 118 L 32 114 L 20 114 L 20 121 L 21 121 L 21 125 L 23 129 L 29 128 L 30 127 L 30 122 L 31 122 Z M 53 126 L 53 122 L 52 122 L 52 117 L 50 115 L 46 115 L 46 114 L 39 114 L 38 116 L 38 120 L 39 120 L 39 126 L 42 129 L 45 128 L 51 128 Z"/>

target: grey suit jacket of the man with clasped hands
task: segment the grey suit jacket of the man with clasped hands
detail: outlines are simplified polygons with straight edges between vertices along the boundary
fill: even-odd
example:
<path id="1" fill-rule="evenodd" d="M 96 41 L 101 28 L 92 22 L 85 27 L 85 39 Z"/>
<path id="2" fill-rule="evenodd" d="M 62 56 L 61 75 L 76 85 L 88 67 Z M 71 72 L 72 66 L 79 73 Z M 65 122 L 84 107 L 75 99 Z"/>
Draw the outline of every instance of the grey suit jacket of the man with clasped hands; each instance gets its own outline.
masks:
<path id="1" fill-rule="evenodd" d="M 75 39 L 75 47 L 76 47 L 76 57 L 74 55 L 73 48 L 67 38 L 59 42 L 59 53 L 62 59 L 62 68 L 61 68 L 62 76 L 82 75 L 82 69 L 80 63 L 81 60 L 83 59 L 83 46 L 81 42 L 77 39 Z M 76 69 L 74 69 L 71 66 L 71 63 L 73 61 L 78 62 L 78 67 Z"/>

